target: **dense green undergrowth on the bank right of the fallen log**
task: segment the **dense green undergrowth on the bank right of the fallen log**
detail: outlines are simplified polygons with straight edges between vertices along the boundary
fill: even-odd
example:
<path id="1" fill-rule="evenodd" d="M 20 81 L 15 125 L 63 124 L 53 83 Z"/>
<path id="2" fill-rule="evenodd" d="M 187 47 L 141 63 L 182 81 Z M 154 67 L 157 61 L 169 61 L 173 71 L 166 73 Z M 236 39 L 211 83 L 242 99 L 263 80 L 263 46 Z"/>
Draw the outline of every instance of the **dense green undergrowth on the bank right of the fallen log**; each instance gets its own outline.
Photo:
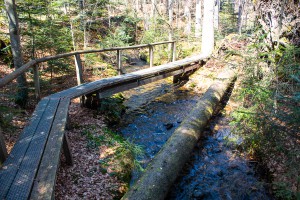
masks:
<path id="1" fill-rule="evenodd" d="M 300 199 L 300 48 L 273 50 L 257 38 L 240 76 L 242 105 L 233 113 L 233 130 L 243 147 L 270 172 L 278 199 Z"/>

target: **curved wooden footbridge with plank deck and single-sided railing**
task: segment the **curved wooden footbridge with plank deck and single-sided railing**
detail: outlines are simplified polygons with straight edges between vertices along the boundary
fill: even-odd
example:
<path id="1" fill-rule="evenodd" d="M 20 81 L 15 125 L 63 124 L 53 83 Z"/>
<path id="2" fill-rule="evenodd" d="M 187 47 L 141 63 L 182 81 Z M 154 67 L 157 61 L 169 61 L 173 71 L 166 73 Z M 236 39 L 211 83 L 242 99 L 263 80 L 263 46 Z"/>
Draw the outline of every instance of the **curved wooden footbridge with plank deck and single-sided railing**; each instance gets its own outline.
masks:
<path id="1" fill-rule="evenodd" d="M 172 62 L 153 66 L 153 46 L 172 44 Z M 150 68 L 120 74 L 115 77 L 83 83 L 80 54 L 117 51 L 119 72 L 122 71 L 121 52 L 126 49 L 149 48 Z M 68 109 L 71 99 L 97 94 L 98 98 L 138 87 L 170 76 L 182 76 L 197 69 L 208 58 L 198 55 L 175 61 L 175 42 L 160 42 L 131 47 L 90 50 L 49 56 L 32 60 L 18 70 L 0 79 L 0 88 L 14 80 L 29 68 L 34 69 L 36 96 L 40 98 L 38 63 L 75 56 L 78 86 L 52 94 L 41 99 L 24 128 L 18 141 L 8 156 L 4 141 L 0 137 L 0 157 L 5 159 L 0 169 L 0 199 L 53 199 L 56 173 L 63 150 L 66 162 L 72 164 L 72 155 L 68 147 L 68 138 L 64 134 L 68 124 Z M 1 133 L 0 133 L 1 134 Z M 1 135 L 0 135 L 1 136 Z M 2 145 L 1 145 L 2 144 Z"/>

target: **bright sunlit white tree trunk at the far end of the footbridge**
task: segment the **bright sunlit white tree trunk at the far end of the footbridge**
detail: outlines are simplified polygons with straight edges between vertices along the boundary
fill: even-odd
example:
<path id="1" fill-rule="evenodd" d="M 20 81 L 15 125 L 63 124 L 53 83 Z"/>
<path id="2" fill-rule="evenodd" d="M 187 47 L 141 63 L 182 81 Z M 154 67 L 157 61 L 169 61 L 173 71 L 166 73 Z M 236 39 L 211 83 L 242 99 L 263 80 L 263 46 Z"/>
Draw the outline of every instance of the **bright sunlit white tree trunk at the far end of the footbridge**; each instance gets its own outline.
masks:
<path id="1" fill-rule="evenodd" d="M 202 25 L 201 52 L 205 55 L 212 54 L 214 50 L 214 5 L 212 0 L 204 0 L 204 15 Z"/>

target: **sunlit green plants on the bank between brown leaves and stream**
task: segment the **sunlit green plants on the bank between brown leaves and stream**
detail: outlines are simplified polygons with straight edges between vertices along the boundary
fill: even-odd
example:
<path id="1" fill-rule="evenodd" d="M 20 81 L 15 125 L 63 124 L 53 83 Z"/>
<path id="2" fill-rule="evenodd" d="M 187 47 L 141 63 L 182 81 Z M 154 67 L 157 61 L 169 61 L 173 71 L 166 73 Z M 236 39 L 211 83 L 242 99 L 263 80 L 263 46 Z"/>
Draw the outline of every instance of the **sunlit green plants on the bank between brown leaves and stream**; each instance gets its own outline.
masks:
<path id="1" fill-rule="evenodd" d="M 133 169 L 143 170 L 136 160 L 136 157 L 143 154 L 141 146 L 133 144 L 108 128 L 102 129 L 101 133 L 96 130 L 95 127 L 86 127 L 82 135 L 87 138 L 89 148 L 100 149 L 99 164 L 103 173 L 129 182 Z"/>

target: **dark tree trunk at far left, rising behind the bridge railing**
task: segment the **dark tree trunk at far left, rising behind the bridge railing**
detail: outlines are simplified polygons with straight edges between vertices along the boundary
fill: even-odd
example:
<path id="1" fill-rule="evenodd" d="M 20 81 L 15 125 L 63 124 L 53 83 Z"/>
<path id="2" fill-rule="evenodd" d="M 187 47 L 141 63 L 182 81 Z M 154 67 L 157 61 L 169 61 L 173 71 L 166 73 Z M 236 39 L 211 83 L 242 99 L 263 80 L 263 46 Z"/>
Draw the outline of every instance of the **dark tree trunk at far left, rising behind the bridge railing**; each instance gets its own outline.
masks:
<path id="1" fill-rule="evenodd" d="M 9 36 L 11 42 L 11 51 L 14 59 L 15 69 L 23 65 L 22 48 L 20 42 L 19 21 L 16 11 L 15 0 L 4 0 L 6 13 L 9 23 Z M 18 76 L 18 91 L 15 102 L 21 107 L 25 107 L 28 100 L 28 89 L 25 73 Z"/>

